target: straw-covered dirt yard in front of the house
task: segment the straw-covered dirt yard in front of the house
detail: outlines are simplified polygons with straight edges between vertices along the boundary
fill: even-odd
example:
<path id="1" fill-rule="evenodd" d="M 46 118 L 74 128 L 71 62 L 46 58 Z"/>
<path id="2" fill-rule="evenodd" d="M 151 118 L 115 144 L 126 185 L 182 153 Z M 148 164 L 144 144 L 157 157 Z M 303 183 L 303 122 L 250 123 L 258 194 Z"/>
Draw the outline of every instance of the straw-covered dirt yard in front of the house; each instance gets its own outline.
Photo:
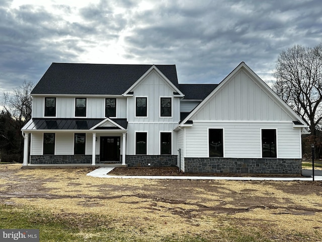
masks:
<path id="1" fill-rule="evenodd" d="M 259 241 L 322 241 L 321 181 L 86 176 L 91 170 L 0 165 L 0 203 L 45 209 L 61 217 L 105 215 L 112 221 L 106 226 L 154 241 L 185 234 L 202 241 L 248 241 L 229 234 L 258 236 Z M 174 175 L 176 170 L 167 172 Z"/>

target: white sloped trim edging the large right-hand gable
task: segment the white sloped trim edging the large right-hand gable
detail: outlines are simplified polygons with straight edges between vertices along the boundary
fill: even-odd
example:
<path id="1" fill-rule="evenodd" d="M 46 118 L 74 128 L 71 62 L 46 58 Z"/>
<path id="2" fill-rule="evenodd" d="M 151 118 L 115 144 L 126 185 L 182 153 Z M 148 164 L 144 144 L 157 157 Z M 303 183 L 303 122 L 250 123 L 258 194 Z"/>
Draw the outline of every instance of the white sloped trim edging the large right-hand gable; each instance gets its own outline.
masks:
<path id="1" fill-rule="evenodd" d="M 203 99 L 202 102 L 200 102 L 183 120 L 181 120 L 181 124 L 186 124 L 190 118 L 193 118 L 195 114 L 198 113 L 199 110 L 201 110 L 208 102 L 211 100 L 212 97 L 214 97 L 225 85 L 226 83 L 241 69 L 244 69 L 247 71 L 254 80 L 257 81 L 257 83 L 260 85 L 260 87 L 265 90 L 267 93 L 270 94 L 270 96 L 274 97 L 276 102 L 283 107 L 287 113 L 294 118 L 295 121 L 302 124 L 302 128 L 308 127 L 307 125 L 304 125 L 305 122 L 303 119 L 301 119 L 251 68 L 249 68 L 244 62 L 241 62 L 228 76 L 226 76 L 219 85 L 212 90 L 212 92 Z M 180 125 L 179 125 L 180 126 Z M 175 128 L 176 129 L 176 128 Z"/>

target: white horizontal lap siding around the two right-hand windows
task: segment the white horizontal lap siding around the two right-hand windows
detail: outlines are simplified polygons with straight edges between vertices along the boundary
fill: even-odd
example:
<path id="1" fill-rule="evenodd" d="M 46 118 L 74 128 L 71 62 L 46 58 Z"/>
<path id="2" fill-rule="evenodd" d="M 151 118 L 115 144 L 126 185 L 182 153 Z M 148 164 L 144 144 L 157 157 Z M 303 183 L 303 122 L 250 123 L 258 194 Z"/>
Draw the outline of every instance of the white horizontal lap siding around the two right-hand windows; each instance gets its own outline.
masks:
<path id="1" fill-rule="evenodd" d="M 194 122 L 186 130 L 186 157 L 209 157 L 209 129 L 223 129 L 224 157 L 262 158 L 261 129 L 276 129 L 277 158 L 301 158 L 300 129 L 289 123 Z"/>

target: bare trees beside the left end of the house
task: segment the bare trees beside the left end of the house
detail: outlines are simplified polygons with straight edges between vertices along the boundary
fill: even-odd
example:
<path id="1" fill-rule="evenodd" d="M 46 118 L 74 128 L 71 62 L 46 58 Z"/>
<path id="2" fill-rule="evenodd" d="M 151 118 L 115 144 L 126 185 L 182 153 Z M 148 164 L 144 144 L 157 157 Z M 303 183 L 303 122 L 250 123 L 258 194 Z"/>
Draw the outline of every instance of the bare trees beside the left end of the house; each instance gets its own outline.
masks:
<path id="1" fill-rule="evenodd" d="M 2 116 L 7 116 L 7 127 L 2 129 L 4 134 L 0 135 L 3 141 L 6 140 L 8 144 L 11 144 L 10 152 L 13 153 L 13 157 L 16 157 L 16 161 L 22 161 L 23 157 L 24 140 L 21 129 L 31 119 L 32 99 L 30 92 L 33 88 L 32 82 L 24 81 L 22 86 L 15 88 L 13 92 L 5 92 L 4 99 L 0 103 L 0 106 L 5 110 L 2 112 Z"/>

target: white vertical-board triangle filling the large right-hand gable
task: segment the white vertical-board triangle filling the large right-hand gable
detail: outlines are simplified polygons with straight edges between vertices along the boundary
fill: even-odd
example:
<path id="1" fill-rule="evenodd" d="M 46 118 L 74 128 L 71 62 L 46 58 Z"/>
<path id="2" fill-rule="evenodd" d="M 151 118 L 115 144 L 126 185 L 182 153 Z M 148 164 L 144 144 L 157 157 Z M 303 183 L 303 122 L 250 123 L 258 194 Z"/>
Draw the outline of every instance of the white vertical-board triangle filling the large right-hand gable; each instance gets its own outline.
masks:
<path id="1" fill-rule="evenodd" d="M 292 120 L 283 108 L 240 70 L 193 120 Z"/>

